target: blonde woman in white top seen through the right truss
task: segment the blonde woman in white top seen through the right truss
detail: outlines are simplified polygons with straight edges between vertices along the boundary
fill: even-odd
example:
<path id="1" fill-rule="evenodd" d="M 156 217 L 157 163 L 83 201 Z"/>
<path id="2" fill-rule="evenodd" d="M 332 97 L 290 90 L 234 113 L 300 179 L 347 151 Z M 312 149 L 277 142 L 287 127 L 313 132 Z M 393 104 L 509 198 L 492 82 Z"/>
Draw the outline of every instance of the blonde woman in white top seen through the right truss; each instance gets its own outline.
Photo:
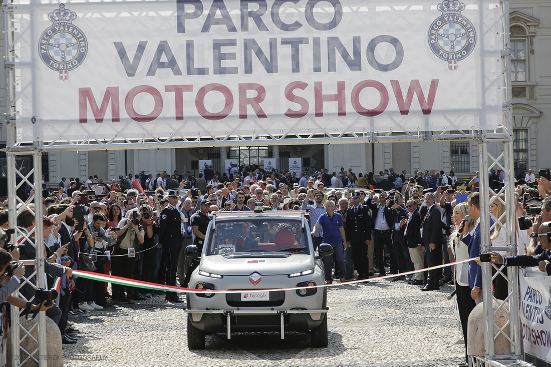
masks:
<path id="1" fill-rule="evenodd" d="M 501 200 L 500 200 L 501 199 Z M 502 202 L 503 201 L 503 202 Z M 499 225 L 498 222 L 501 224 L 505 224 L 505 194 L 501 193 L 499 195 L 499 198 L 496 198 L 493 203 L 490 205 L 490 213 L 495 217 L 496 222 L 493 229 L 493 232 L 491 233 L 491 246 L 506 246 L 507 245 L 507 231 L 501 228 L 501 225 Z M 503 218 L 500 219 L 501 215 L 503 215 Z M 490 251 L 494 251 L 490 249 Z M 507 253 L 505 251 L 498 251 L 499 255 L 501 256 L 507 256 Z M 495 274 L 495 269 L 491 268 L 492 275 Z M 507 275 L 507 268 L 505 266 L 501 266 L 501 272 L 503 272 L 505 275 Z M 509 290 L 507 287 L 507 279 L 505 279 L 501 274 L 498 274 L 498 276 L 494 279 L 494 296 L 497 299 L 505 300 L 507 297 L 507 294 L 509 294 Z"/>

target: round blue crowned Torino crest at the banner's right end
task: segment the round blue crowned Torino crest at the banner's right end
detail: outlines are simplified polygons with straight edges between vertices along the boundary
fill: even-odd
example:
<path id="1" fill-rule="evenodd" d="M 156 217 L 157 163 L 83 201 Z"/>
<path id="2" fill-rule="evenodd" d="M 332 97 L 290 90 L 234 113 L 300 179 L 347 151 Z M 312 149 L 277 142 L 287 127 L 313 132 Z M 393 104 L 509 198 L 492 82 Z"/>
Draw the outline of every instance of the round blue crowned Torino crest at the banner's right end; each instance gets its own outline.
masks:
<path id="1" fill-rule="evenodd" d="M 445 0 L 438 4 L 442 15 L 429 28 L 429 46 L 434 54 L 448 62 L 450 70 L 457 70 L 457 62 L 473 52 L 477 34 L 470 20 L 461 12 L 465 4 L 457 0 Z"/>

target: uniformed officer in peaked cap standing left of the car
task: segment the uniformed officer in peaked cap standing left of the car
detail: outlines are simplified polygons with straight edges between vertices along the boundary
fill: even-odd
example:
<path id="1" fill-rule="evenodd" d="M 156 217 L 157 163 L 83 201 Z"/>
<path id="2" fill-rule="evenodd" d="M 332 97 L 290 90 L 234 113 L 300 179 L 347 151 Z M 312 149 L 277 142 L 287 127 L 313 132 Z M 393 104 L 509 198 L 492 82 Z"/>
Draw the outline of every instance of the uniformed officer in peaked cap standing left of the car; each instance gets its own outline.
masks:
<path id="1" fill-rule="evenodd" d="M 169 190 L 169 204 L 160 213 L 160 223 L 157 233 L 159 244 L 166 256 L 166 285 L 176 285 L 176 270 L 178 257 L 182 249 L 182 215 L 176 207 L 180 201 L 178 190 Z M 166 292 L 167 301 L 183 302 L 176 292 Z"/>

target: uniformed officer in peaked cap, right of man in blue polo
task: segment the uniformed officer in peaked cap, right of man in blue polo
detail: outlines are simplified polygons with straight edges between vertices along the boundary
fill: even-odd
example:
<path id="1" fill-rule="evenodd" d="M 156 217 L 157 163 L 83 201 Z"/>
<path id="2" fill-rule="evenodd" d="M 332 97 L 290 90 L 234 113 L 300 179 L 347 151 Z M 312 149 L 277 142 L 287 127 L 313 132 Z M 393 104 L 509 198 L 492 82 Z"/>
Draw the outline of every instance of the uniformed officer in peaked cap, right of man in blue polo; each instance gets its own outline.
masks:
<path id="1" fill-rule="evenodd" d="M 358 280 L 369 278 L 368 245 L 371 242 L 371 217 L 368 207 L 360 203 L 360 193 L 352 193 L 352 206 L 346 211 L 344 232 L 352 247 L 352 260 Z"/>

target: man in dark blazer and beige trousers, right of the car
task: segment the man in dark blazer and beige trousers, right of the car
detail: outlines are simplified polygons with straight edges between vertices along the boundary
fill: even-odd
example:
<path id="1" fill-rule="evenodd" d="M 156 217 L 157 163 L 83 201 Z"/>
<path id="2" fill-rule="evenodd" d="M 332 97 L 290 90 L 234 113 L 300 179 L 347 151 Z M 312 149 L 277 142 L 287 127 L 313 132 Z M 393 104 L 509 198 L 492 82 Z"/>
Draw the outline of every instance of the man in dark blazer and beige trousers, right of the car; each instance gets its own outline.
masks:
<path id="1" fill-rule="evenodd" d="M 413 262 L 415 270 L 420 270 L 423 269 L 423 260 L 421 256 L 424 253 L 423 246 L 420 244 L 422 242 L 420 232 L 421 217 L 417 210 L 417 203 L 415 203 L 414 200 L 408 200 L 406 209 L 408 211 L 408 219 L 404 224 L 404 240 L 406 241 L 406 246 L 408 246 L 409 257 Z M 411 284 L 422 285 L 424 282 L 425 276 L 423 272 L 418 272 L 415 273 L 415 277 Z"/>

